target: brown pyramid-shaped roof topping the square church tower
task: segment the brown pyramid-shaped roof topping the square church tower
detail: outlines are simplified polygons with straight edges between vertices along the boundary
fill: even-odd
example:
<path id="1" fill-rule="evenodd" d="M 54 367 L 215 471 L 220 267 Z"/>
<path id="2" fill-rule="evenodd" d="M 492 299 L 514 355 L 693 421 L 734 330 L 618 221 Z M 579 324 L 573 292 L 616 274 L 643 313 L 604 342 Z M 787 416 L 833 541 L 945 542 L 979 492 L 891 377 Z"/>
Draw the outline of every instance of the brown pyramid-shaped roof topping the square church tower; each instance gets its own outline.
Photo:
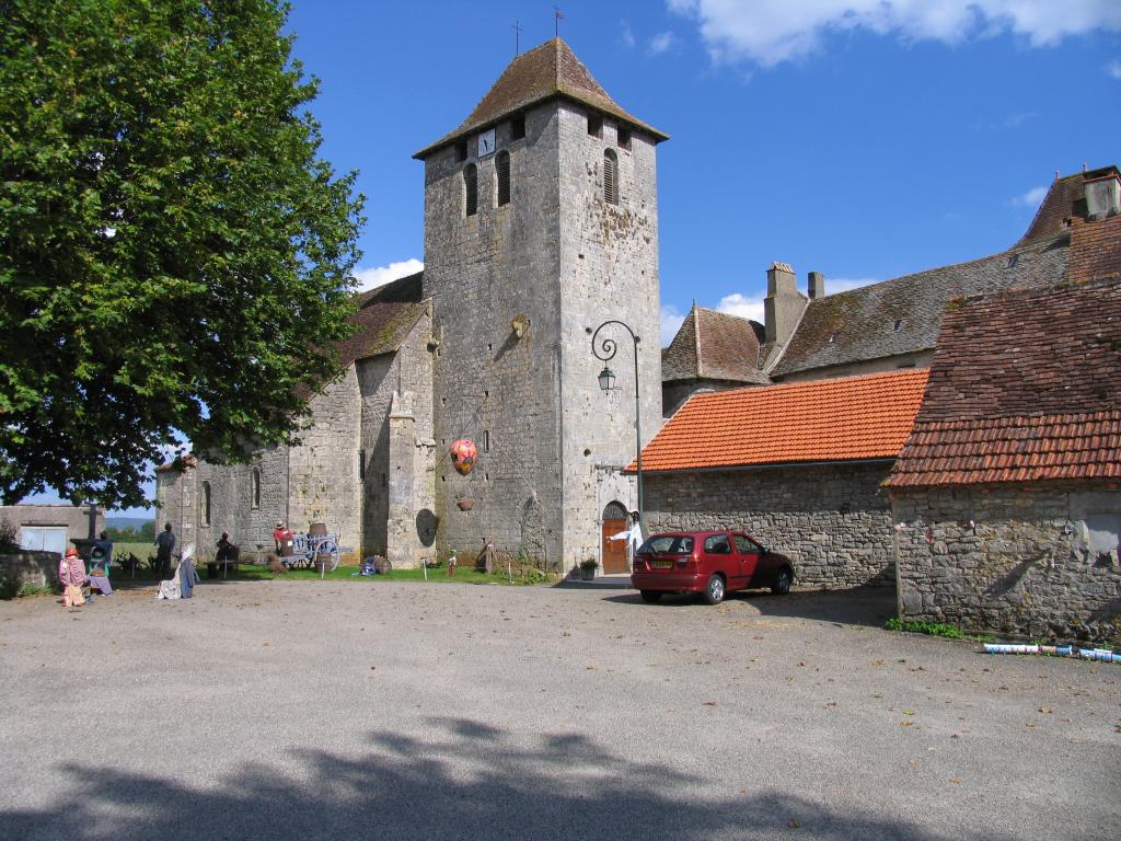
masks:
<path id="1" fill-rule="evenodd" d="M 669 136 L 623 111 L 608 92 L 587 72 L 572 49 L 560 38 L 522 53 L 506 68 L 498 82 L 482 101 L 475 105 L 466 120 L 457 129 L 436 142 L 426 146 L 414 158 L 426 158 L 443 146 L 458 140 L 465 135 L 483 129 L 502 118 L 553 96 L 580 102 L 610 114 L 632 126 L 654 140 L 668 140 Z"/>

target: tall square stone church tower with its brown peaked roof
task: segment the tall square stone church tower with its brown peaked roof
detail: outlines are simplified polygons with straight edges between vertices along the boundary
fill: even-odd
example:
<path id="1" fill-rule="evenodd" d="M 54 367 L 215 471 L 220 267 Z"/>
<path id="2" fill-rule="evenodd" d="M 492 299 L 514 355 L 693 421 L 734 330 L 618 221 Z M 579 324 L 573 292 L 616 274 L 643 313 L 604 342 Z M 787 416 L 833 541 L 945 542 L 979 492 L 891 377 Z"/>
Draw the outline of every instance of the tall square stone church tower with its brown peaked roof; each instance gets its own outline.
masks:
<path id="1" fill-rule="evenodd" d="M 601 555 L 603 507 L 636 507 L 633 351 L 601 391 L 592 331 L 641 338 L 643 444 L 660 424 L 655 149 L 560 39 L 517 57 L 425 164 L 424 298 L 434 303 L 438 547 L 571 569 Z M 613 332 L 609 332 L 613 331 Z M 471 438 L 460 475 L 447 455 Z M 615 506 L 618 509 L 618 506 Z"/>

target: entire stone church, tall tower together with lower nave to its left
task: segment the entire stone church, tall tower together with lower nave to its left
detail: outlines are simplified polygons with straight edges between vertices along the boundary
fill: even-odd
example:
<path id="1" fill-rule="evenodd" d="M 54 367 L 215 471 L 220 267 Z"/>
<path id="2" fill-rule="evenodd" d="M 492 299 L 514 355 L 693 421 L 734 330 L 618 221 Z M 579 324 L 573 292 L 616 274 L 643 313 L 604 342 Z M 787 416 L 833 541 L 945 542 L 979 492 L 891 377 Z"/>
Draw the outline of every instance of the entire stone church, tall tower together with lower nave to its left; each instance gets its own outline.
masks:
<path id="1" fill-rule="evenodd" d="M 643 443 L 661 422 L 655 147 L 559 39 L 516 58 L 425 165 L 425 269 L 363 293 L 342 376 L 300 443 L 251 464 L 160 469 L 183 539 L 272 545 L 276 519 L 323 523 L 348 561 L 451 552 L 566 571 L 614 558 L 605 516 L 637 507 L 630 334 L 603 392 L 592 332 L 638 345 Z M 452 444 L 478 462 L 456 472 Z M 174 515 L 174 516 L 173 516 Z M 605 566 L 611 565 L 604 561 Z M 623 560 L 626 569 L 626 560 Z M 614 571 L 621 571 L 615 567 Z"/>

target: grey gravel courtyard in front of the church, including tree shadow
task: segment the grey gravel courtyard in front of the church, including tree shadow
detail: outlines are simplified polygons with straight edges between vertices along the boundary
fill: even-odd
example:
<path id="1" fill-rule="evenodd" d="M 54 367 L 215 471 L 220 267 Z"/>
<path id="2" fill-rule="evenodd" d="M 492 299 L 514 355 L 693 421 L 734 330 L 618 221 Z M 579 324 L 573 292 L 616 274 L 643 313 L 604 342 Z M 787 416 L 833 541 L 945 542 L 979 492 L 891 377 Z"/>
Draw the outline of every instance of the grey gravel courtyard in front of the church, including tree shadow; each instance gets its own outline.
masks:
<path id="1" fill-rule="evenodd" d="M 286 581 L 0 602 L 0 835 L 1118 838 L 1121 666 L 876 627 L 892 608 Z"/>

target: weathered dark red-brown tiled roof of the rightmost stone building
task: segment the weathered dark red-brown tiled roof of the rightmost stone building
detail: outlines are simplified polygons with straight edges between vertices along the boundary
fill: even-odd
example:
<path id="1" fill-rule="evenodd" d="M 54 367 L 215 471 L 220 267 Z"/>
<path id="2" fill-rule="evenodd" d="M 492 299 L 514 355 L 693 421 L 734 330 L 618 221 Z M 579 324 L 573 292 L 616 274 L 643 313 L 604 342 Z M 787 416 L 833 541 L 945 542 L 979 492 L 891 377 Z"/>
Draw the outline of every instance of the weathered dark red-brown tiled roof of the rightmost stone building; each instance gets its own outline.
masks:
<path id="1" fill-rule="evenodd" d="M 1121 280 L 953 304 L 892 488 L 1121 479 Z"/>

